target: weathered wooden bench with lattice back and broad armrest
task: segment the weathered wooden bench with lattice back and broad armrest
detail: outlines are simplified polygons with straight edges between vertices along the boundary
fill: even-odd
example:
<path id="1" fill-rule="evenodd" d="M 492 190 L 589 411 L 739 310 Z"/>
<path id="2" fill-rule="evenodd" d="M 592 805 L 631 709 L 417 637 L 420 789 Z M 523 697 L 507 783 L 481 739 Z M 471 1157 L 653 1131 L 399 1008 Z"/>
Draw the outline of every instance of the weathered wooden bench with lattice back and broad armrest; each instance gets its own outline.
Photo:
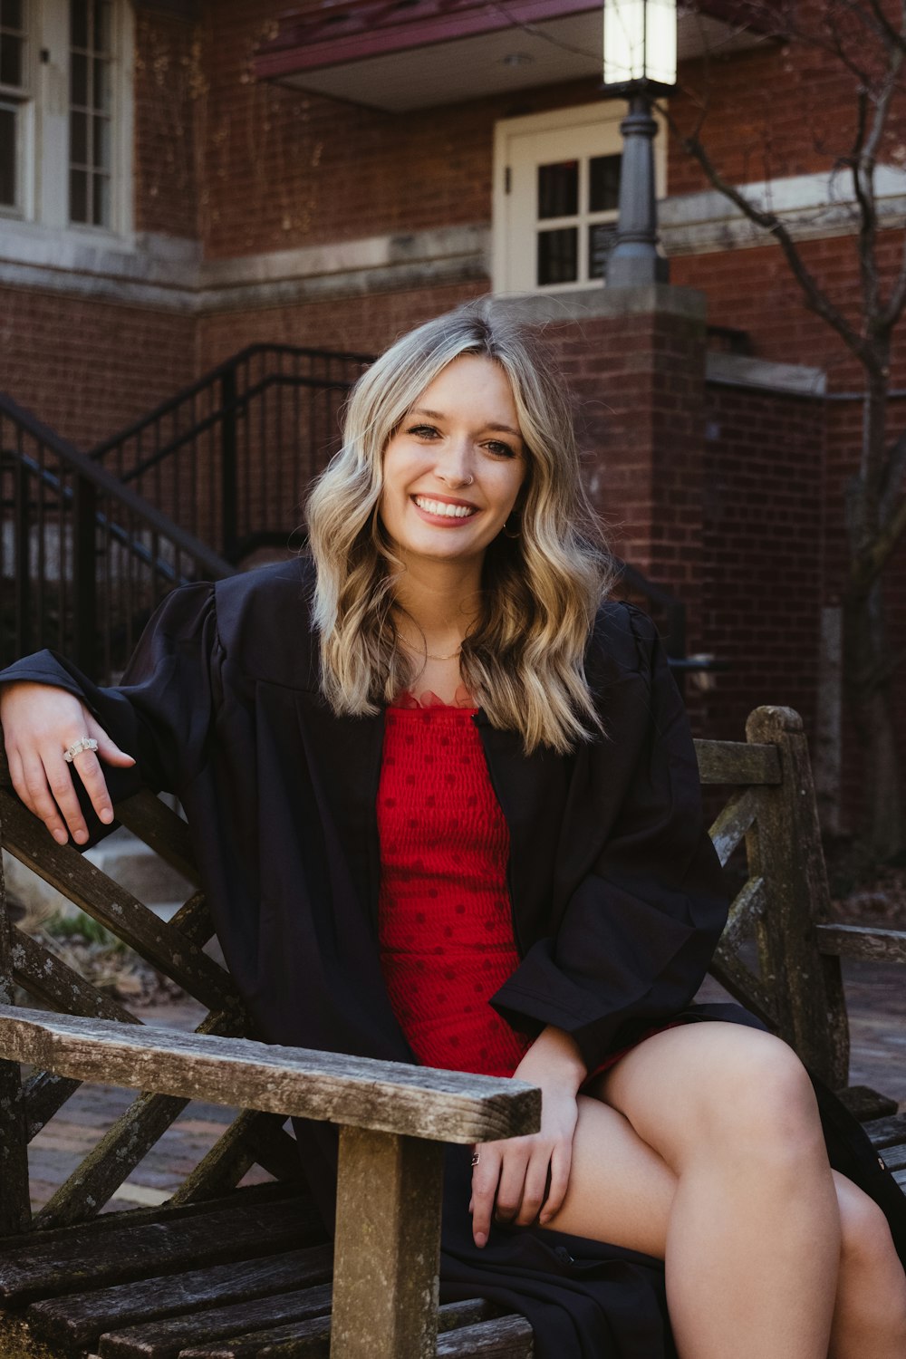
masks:
<path id="1" fill-rule="evenodd" d="M 729 788 L 712 836 L 740 881 L 713 974 L 831 1086 L 846 1086 L 839 955 L 906 959 L 906 932 L 827 921 L 805 739 L 758 708 L 746 742 L 697 742 L 702 783 Z M 485 1302 L 437 1310 L 444 1142 L 528 1132 L 519 1082 L 273 1048 L 242 1037 L 196 892 L 170 923 L 72 847 L 56 847 L 0 771 L 3 844 L 208 1008 L 197 1033 L 141 1025 L 10 921 L 0 904 L 0 1359 L 527 1359 L 531 1330 Z M 120 819 L 190 881 L 185 824 L 151 794 Z M 24 1064 L 24 1072 L 20 1067 Z M 29 1142 L 79 1082 L 141 1091 L 34 1215 Z M 906 1180 L 906 1118 L 848 1097 Z M 243 1106 L 163 1207 L 101 1214 L 189 1099 Z M 288 1114 L 340 1125 L 336 1249 L 299 1173 Z M 235 1188 L 253 1165 L 274 1181 Z M 331 1258 L 333 1257 L 333 1258 Z M 333 1290 L 330 1286 L 333 1264 Z"/>

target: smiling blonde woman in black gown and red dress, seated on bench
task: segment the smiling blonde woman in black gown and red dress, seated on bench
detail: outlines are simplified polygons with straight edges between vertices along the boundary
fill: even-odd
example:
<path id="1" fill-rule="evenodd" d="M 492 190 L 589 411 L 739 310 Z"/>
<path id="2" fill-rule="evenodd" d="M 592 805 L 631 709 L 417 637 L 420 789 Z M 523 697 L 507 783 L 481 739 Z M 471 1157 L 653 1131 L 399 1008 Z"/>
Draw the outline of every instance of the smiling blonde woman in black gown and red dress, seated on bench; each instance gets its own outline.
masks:
<path id="1" fill-rule="evenodd" d="M 429 322 L 308 518 L 314 569 L 175 591 L 118 689 L 4 671 L 23 802 L 84 844 L 68 762 L 105 824 L 136 761 L 178 791 L 264 1038 L 541 1087 L 539 1133 L 451 1154 L 444 1220 L 448 1296 L 522 1307 L 539 1355 L 902 1356 L 888 1223 L 797 1059 L 691 1006 L 720 872 L 656 632 L 600 603 L 557 376 L 482 307 Z"/>

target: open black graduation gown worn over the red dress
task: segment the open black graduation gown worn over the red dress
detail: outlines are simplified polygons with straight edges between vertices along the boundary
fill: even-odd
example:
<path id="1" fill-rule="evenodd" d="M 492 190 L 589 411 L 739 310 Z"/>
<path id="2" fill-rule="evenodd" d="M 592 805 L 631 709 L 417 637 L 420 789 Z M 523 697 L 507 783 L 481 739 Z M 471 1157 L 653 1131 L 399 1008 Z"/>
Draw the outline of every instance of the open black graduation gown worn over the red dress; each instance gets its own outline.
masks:
<path id="1" fill-rule="evenodd" d="M 302 560 L 175 590 L 113 689 L 49 651 L 0 681 L 56 684 L 88 704 L 137 760 L 134 771 L 107 769 L 114 798 L 139 780 L 179 795 L 227 962 L 262 1040 L 412 1061 L 378 953 L 383 718 L 337 718 L 321 697 L 312 582 Z M 519 737 L 482 712 L 475 722 L 509 826 L 520 954 L 493 1004 L 530 1034 L 547 1023 L 566 1030 L 594 1067 L 652 1022 L 748 1017 L 691 1006 L 727 904 L 682 700 L 645 614 L 602 607 L 587 675 L 606 735 L 568 757 L 527 757 Z M 871 1188 L 877 1161 L 857 1127 L 842 1127 L 833 1159 L 849 1154 L 841 1169 Z M 297 1132 L 329 1218 L 330 1129 Z M 524 1311 L 539 1359 L 674 1354 L 660 1263 L 541 1230 L 494 1229 L 478 1252 L 467 1185 L 465 1150 L 451 1148 L 446 1296 L 484 1295 Z"/>

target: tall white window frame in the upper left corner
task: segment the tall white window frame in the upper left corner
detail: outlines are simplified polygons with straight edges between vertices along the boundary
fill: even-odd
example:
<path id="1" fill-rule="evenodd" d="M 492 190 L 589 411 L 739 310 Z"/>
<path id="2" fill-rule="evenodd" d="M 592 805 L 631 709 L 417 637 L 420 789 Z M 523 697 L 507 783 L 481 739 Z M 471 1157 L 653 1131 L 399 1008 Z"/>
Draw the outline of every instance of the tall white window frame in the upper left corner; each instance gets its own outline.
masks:
<path id="1" fill-rule="evenodd" d="M 69 220 L 69 0 L 29 0 L 30 98 L 20 105 L 19 202 L 0 220 L 31 223 L 65 236 L 118 241 L 133 232 L 134 14 L 114 0 L 110 226 Z"/>

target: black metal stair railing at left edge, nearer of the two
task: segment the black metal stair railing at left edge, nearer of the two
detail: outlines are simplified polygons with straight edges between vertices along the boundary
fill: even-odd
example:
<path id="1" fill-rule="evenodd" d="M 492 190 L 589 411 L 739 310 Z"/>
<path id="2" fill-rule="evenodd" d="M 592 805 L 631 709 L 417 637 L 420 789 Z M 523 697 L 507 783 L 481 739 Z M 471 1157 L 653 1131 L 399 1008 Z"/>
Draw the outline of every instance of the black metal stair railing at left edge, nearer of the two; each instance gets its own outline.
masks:
<path id="1" fill-rule="evenodd" d="M 234 568 L 0 394 L 0 660 L 41 647 L 114 680 L 158 601 Z"/>

